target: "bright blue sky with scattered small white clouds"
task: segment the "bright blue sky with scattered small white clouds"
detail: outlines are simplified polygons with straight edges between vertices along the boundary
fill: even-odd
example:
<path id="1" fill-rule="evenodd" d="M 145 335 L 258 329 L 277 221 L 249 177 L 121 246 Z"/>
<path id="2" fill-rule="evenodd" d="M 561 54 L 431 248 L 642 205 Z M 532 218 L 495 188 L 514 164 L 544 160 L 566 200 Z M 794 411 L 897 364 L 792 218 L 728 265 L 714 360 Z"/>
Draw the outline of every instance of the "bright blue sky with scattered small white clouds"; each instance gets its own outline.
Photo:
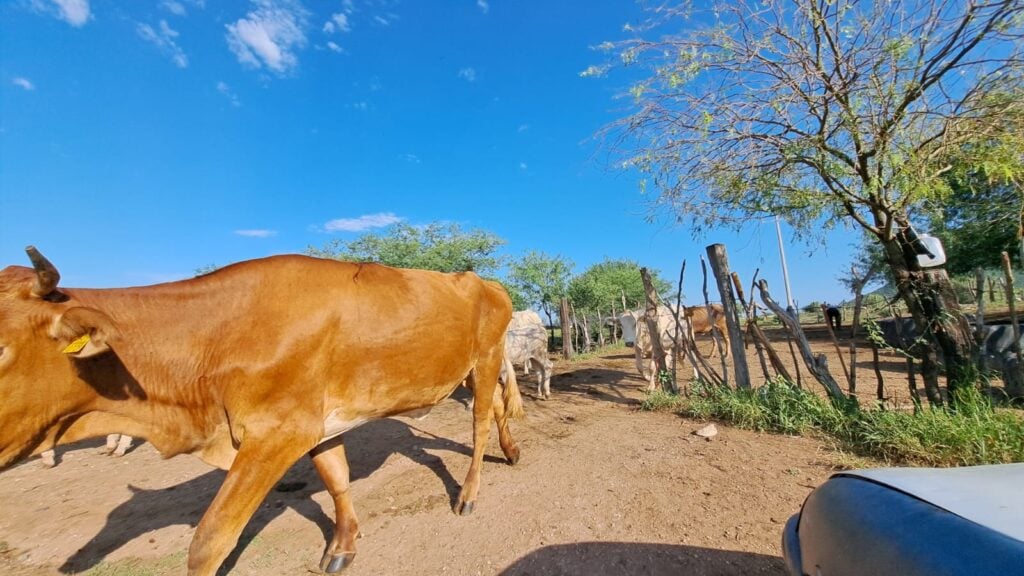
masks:
<path id="1" fill-rule="evenodd" d="M 143 285 L 446 221 L 578 273 L 630 258 L 675 279 L 686 259 L 693 302 L 720 242 L 781 299 L 771 220 L 694 241 L 668 214 L 648 223 L 635 175 L 605 165 L 594 134 L 625 115 L 628 78 L 580 73 L 638 17 L 592 1 L 5 2 L 0 265 L 34 244 L 61 285 Z M 846 298 L 854 237 L 790 236 L 798 304 Z"/>

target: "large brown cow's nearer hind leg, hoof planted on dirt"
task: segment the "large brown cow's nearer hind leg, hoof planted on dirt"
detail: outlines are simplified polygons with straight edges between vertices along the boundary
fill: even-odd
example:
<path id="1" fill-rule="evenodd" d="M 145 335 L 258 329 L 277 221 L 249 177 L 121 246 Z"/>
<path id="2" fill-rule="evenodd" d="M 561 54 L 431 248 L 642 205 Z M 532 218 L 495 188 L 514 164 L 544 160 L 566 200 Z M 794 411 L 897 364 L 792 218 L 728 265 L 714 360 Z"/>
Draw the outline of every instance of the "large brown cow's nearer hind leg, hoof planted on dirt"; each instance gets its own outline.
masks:
<path id="1" fill-rule="evenodd" d="M 490 418 L 501 365 L 501 351 L 498 351 L 481 358 L 470 374 L 470 387 L 473 388 L 473 460 L 455 504 L 455 511 L 462 516 L 473 511 L 476 495 L 480 490 L 480 468 L 483 467 L 483 453 L 487 450 L 490 435 Z"/>

